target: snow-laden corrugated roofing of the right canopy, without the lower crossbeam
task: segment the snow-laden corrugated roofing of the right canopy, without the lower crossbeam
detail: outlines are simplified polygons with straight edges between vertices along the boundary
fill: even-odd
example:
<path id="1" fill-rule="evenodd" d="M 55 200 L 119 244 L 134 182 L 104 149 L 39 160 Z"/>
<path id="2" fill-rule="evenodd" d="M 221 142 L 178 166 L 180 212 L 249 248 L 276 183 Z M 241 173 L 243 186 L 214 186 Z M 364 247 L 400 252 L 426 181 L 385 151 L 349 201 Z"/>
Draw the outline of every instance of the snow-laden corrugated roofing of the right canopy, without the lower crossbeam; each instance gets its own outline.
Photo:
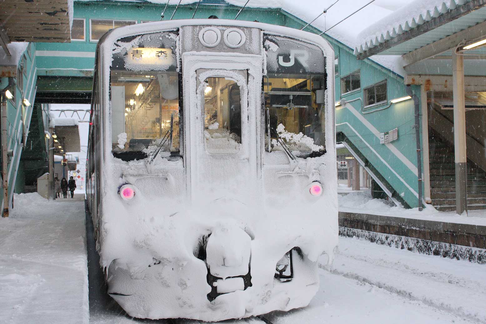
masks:
<path id="1" fill-rule="evenodd" d="M 375 54 L 403 55 L 486 21 L 486 0 L 435 0 L 430 9 L 420 0 L 420 6 L 425 9 L 417 17 L 419 11 L 408 16 L 405 12 L 405 20 L 397 21 L 398 10 L 365 29 L 358 36 L 362 43 L 354 51 L 358 59 Z"/>

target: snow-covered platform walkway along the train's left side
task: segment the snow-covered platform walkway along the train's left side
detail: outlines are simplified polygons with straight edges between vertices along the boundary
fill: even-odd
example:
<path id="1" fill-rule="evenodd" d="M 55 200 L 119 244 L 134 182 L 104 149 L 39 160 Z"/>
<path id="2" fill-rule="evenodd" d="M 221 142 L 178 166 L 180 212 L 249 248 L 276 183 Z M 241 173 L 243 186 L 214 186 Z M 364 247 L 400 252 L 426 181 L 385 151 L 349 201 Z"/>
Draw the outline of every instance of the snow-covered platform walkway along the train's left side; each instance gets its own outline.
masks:
<path id="1" fill-rule="evenodd" d="M 14 196 L 0 218 L 0 323 L 88 323 L 84 196 Z"/>

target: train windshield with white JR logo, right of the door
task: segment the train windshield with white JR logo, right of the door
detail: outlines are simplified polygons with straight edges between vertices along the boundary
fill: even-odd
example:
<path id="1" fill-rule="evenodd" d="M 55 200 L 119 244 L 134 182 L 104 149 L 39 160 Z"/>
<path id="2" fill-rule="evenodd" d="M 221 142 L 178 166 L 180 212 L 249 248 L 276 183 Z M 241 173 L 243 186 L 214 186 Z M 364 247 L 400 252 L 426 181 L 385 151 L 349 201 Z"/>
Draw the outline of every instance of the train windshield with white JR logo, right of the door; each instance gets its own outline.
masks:
<path id="1" fill-rule="evenodd" d="M 264 36 L 265 150 L 289 150 L 300 157 L 325 150 L 326 61 L 312 44 Z"/>

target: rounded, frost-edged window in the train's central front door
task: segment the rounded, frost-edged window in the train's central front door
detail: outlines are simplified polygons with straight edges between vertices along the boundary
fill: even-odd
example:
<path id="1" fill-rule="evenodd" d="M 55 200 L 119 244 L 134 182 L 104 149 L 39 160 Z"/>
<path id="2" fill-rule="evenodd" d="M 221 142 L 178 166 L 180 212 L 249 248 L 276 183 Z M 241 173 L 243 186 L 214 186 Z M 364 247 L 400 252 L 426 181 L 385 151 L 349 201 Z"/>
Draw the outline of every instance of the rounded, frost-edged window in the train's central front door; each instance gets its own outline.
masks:
<path id="1" fill-rule="evenodd" d="M 208 153 L 238 153 L 242 143 L 240 86 L 207 78 L 204 88 L 204 142 Z"/>

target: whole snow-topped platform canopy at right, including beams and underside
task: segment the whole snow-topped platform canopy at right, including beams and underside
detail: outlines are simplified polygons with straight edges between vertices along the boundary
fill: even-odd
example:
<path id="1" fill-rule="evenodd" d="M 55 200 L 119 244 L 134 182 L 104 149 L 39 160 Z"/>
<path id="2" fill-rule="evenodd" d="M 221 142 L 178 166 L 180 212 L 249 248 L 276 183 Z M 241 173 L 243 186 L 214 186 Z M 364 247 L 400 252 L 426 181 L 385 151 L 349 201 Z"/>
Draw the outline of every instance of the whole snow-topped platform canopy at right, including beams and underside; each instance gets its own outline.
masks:
<path id="1" fill-rule="evenodd" d="M 414 0 L 365 28 L 358 59 L 400 55 L 407 75 L 451 75 L 451 55 L 465 55 L 464 74 L 486 75 L 486 0 Z"/>

